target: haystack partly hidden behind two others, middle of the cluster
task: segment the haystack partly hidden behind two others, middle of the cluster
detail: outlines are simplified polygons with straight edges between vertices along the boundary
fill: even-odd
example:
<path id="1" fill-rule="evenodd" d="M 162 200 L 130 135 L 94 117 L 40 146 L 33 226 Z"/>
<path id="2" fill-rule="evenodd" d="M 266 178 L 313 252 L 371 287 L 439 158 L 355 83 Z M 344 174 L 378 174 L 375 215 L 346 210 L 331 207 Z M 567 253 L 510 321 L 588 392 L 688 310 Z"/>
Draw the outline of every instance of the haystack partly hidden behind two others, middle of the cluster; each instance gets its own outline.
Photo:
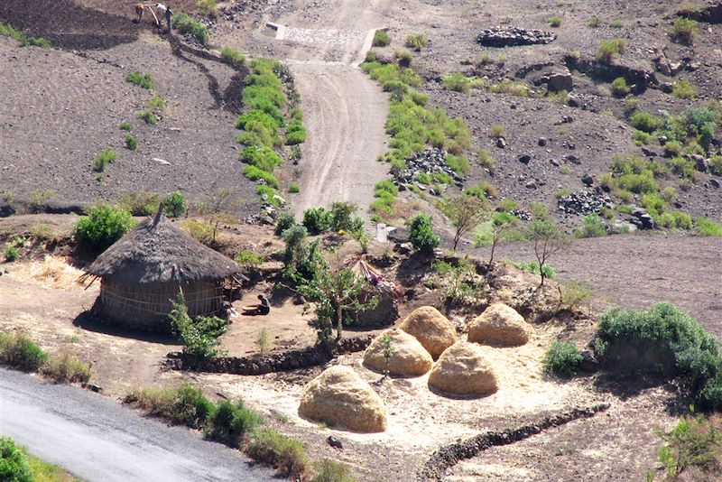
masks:
<path id="1" fill-rule="evenodd" d="M 434 359 L 457 341 L 454 325 L 432 306 L 412 311 L 399 328 L 418 339 Z"/>

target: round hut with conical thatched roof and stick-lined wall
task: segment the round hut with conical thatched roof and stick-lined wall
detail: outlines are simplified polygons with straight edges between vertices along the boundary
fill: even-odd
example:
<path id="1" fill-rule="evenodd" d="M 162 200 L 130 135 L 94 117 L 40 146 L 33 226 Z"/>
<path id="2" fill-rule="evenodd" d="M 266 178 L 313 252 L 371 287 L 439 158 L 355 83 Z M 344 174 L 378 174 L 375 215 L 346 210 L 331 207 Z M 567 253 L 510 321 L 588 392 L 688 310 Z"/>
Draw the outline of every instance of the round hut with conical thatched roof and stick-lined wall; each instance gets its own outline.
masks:
<path id="1" fill-rule="evenodd" d="M 131 329 L 170 332 L 171 300 L 180 292 L 188 314 L 219 314 L 228 278 L 243 277 L 227 256 L 180 231 L 161 210 L 110 246 L 86 269 L 100 278 L 93 311 L 103 320 Z"/>

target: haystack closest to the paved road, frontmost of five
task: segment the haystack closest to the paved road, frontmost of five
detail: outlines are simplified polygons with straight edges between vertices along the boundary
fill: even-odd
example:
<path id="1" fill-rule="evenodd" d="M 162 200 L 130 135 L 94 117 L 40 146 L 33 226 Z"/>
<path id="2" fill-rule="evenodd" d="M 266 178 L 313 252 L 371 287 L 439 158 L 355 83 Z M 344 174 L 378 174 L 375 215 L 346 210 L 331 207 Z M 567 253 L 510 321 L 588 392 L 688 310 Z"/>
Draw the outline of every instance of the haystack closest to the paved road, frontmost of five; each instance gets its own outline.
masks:
<path id="1" fill-rule="evenodd" d="M 386 406 L 381 397 L 348 366 L 331 366 L 301 393 L 304 417 L 352 431 L 386 430 Z"/>

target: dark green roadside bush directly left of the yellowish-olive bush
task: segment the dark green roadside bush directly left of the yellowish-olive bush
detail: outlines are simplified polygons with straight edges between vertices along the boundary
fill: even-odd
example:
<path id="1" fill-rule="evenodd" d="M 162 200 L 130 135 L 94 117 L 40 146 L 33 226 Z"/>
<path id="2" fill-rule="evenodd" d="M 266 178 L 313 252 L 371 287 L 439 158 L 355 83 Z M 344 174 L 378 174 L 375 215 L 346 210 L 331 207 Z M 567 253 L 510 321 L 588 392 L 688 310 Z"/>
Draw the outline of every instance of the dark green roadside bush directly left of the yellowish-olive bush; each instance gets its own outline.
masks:
<path id="1" fill-rule="evenodd" d="M 263 422 L 261 415 L 247 408 L 243 400 L 236 403 L 224 400 L 216 405 L 208 418 L 206 434 L 209 439 L 238 447 L 240 441 Z"/>

